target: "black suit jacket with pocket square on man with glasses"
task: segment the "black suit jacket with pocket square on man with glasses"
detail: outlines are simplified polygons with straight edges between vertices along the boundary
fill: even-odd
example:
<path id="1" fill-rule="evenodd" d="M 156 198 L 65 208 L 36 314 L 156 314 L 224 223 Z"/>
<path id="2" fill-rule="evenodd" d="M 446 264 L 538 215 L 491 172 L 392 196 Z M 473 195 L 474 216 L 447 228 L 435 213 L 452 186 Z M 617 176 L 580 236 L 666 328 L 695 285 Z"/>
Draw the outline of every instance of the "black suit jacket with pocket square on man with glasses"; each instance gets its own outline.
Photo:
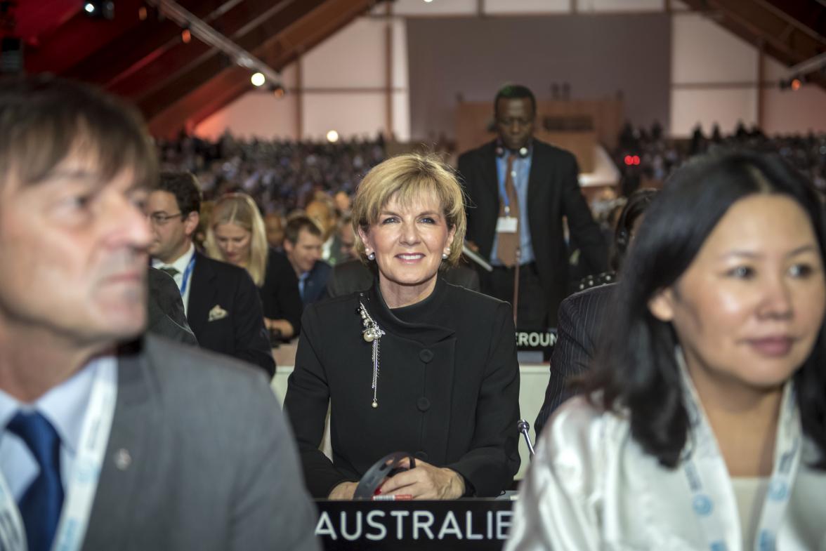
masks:
<path id="1" fill-rule="evenodd" d="M 196 251 L 189 285 L 187 319 L 201 347 L 258 365 L 272 377 L 261 299 L 247 271 Z"/>

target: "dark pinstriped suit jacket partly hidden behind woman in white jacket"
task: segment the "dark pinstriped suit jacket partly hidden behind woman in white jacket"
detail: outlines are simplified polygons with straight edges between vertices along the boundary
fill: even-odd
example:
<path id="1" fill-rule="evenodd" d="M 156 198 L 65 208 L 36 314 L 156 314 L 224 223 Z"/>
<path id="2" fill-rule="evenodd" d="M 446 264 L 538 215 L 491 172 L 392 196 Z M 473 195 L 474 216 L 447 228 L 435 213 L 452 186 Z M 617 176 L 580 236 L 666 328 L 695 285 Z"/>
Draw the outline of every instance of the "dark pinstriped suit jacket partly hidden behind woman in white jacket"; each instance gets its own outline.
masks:
<path id="1" fill-rule="evenodd" d="M 537 438 L 557 407 L 577 393 L 568 381 L 591 369 L 599 351 L 601 330 L 609 313 L 616 284 L 601 285 L 572 294 L 559 305 L 557 343 L 551 355 L 551 376 L 545 401 L 534 422 Z"/>

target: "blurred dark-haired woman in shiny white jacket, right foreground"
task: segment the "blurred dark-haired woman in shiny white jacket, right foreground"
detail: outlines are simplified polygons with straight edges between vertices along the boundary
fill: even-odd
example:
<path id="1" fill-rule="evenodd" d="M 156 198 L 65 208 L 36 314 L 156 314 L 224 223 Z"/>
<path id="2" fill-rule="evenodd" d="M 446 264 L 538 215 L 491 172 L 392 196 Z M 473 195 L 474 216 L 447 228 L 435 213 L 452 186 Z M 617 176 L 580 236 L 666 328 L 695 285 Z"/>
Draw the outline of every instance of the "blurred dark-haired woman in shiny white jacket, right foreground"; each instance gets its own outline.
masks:
<path id="1" fill-rule="evenodd" d="M 780 158 L 675 173 L 590 392 L 539 440 L 507 551 L 826 549 L 824 232 Z"/>

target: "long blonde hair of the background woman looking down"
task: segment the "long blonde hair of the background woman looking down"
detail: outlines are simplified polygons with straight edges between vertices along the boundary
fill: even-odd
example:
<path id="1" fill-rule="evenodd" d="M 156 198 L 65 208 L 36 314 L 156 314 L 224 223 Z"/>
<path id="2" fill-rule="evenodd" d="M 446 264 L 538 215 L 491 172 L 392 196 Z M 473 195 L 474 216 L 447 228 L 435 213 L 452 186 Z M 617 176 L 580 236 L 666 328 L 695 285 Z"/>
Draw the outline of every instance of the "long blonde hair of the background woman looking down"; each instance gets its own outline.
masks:
<path id="1" fill-rule="evenodd" d="M 235 224 L 247 230 L 249 239 L 249 261 L 247 271 L 255 285 L 263 285 L 267 271 L 267 233 L 264 230 L 261 212 L 252 197 L 245 193 L 230 193 L 216 201 L 207 228 L 207 255 L 216 260 L 224 260 L 216 243 L 215 228 L 221 224 Z"/>

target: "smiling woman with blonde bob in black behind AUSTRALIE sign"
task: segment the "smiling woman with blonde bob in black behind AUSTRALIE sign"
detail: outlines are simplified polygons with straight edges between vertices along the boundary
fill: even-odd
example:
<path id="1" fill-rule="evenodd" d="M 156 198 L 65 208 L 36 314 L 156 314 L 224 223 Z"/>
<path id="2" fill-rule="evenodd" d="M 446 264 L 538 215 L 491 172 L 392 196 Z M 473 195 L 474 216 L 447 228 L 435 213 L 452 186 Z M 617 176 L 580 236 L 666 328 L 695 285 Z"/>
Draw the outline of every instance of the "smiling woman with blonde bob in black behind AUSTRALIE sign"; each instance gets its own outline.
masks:
<path id="1" fill-rule="evenodd" d="M 350 499 L 386 454 L 415 468 L 379 491 L 413 499 L 496 496 L 519 468 L 519 370 L 510 305 L 450 285 L 465 231 L 461 187 L 434 158 L 401 155 L 356 192 L 353 224 L 370 290 L 311 304 L 284 408 L 306 485 Z M 319 450 L 330 406 L 333 459 Z"/>

